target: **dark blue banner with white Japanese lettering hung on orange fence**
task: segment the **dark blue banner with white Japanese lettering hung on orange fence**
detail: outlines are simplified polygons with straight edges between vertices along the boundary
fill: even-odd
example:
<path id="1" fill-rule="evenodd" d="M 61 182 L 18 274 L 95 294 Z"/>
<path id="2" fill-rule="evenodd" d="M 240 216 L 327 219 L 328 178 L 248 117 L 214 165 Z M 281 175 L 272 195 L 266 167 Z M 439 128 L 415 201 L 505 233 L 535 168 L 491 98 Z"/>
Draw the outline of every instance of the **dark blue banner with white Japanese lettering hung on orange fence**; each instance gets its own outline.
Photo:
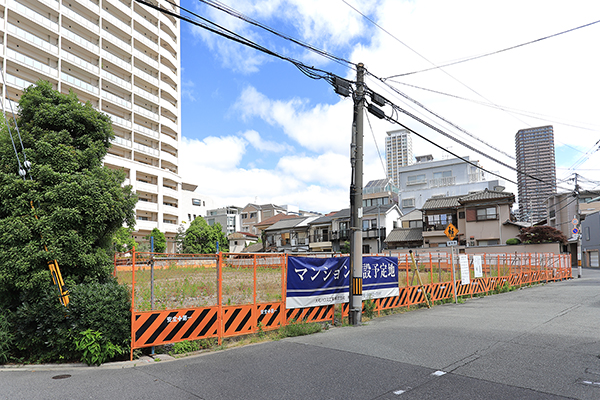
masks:
<path id="1" fill-rule="evenodd" d="M 348 257 L 289 257 L 286 308 L 347 303 Z M 363 258 L 363 299 L 398 296 L 398 258 Z"/>

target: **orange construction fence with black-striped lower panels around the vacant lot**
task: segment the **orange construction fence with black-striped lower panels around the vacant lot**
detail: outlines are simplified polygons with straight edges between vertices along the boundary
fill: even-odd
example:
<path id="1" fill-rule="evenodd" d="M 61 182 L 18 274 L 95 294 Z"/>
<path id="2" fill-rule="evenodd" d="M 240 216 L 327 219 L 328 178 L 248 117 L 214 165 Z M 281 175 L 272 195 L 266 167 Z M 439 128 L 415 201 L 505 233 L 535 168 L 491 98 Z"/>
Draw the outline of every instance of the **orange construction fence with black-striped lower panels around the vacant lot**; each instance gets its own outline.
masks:
<path id="1" fill-rule="evenodd" d="M 394 254 L 386 254 L 394 256 Z M 114 275 L 131 288 L 131 356 L 137 348 L 183 340 L 246 335 L 294 321 L 332 321 L 336 305 L 286 309 L 287 254 L 158 254 L 115 256 Z M 323 257 L 323 255 L 311 255 Z M 329 255 L 331 256 L 331 255 Z M 338 256 L 338 255 L 336 255 Z M 570 255 L 481 254 L 481 277 L 467 255 L 470 282 L 459 279 L 459 258 L 447 253 L 398 257 L 398 296 L 374 299 L 374 311 L 473 296 L 509 286 L 571 278 Z M 465 256 L 463 254 L 463 256 Z M 453 259 L 454 258 L 454 259 Z M 415 279 L 419 273 L 423 286 Z M 341 315 L 348 304 L 337 305 Z"/>

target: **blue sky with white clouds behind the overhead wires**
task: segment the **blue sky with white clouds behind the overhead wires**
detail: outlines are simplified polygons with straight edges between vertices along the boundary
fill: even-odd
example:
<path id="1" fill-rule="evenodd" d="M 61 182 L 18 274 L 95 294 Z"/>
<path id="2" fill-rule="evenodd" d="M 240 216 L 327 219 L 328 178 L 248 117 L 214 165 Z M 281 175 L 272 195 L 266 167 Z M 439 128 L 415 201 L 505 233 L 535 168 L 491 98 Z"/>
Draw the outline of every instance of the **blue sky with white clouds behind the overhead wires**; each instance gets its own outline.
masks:
<path id="1" fill-rule="evenodd" d="M 559 192 L 573 189 L 569 179 L 575 173 L 584 189 L 600 188 L 597 0 L 220 4 L 353 65 L 363 63 L 369 89 L 483 153 L 410 116 L 394 115 L 439 145 L 413 136 L 415 155 L 441 160 L 453 157 L 450 150 L 469 156 L 500 175 L 486 174 L 488 180 L 500 179 L 516 194 L 511 183 L 517 182 L 516 172 L 494 160 L 516 167 L 517 131 L 553 125 Z M 356 80 L 354 67 L 198 0 L 181 0 L 181 7 L 197 14 L 182 15 L 197 21 L 200 16 L 282 56 Z M 422 71 L 488 53 L 495 54 Z M 184 21 L 181 70 L 179 173 L 185 182 L 197 184 L 197 191 L 218 207 L 274 203 L 327 213 L 349 206 L 351 98 L 337 95 L 327 81 L 307 77 L 288 61 Z M 392 115 L 389 106 L 382 109 Z M 399 128 L 365 116 L 365 184 L 385 178 L 386 132 Z"/>

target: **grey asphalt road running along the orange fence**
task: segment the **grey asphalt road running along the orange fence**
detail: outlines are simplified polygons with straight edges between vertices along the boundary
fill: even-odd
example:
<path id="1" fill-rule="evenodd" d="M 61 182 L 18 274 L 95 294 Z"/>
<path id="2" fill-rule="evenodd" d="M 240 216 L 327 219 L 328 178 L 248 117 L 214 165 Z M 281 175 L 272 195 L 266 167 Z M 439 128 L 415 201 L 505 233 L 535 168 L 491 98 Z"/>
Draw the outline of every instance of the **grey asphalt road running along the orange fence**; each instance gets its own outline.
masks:
<path id="1" fill-rule="evenodd" d="M 584 269 L 580 279 L 173 361 L 2 367 L 0 398 L 600 399 L 599 357 L 600 270 Z"/>

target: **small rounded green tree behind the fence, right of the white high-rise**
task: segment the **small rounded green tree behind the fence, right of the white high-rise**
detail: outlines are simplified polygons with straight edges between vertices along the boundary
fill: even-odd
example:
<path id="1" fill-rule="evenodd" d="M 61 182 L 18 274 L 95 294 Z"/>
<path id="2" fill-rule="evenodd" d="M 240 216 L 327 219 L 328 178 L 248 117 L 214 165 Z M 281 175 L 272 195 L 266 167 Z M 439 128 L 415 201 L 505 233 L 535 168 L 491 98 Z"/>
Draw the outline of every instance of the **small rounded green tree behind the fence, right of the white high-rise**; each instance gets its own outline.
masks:
<path id="1" fill-rule="evenodd" d="M 182 252 L 186 254 L 213 254 L 229 250 L 229 241 L 223 233 L 221 224 L 208 225 L 202 217 L 196 217 L 185 231 L 182 240 Z"/>

